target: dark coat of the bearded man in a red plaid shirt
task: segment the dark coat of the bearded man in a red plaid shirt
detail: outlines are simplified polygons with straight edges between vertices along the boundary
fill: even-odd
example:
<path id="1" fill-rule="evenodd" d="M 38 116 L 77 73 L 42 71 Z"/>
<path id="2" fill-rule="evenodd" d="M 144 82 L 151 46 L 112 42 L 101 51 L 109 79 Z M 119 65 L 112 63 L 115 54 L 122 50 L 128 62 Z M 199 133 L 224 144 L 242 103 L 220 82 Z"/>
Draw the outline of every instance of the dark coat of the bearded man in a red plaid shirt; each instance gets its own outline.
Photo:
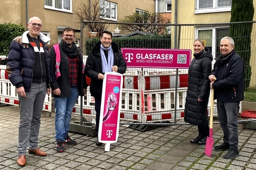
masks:
<path id="1" fill-rule="evenodd" d="M 60 43 L 64 43 L 62 40 Z M 53 97 L 69 97 L 71 96 L 71 86 L 70 86 L 70 72 L 69 72 L 69 59 L 67 53 L 63 51 L 61 48 L 61 44 L 59 43 L 60 47 L 60 55 L 61 55 L 61 62 L 60 62 L 60 73 L 61 76 L 56 79 L 55 76 L 55 64 L 56 64 L 56 54 L 54 47 L 50 49 L 50 75 L 52 79 L 51 88 L 52 88 L 52 96 Z M 87 88 L 87 83 L 85 79 L 85 75 L 83 74 L 83 56 L 79 54 L 80 65 L 78 69 L 78 91 L 79 96 L 84 96 L 83 88 Z M 61 90 L 61 95 L 56 96 L 53 94 L 53 90 L 59 88 Z"/>

